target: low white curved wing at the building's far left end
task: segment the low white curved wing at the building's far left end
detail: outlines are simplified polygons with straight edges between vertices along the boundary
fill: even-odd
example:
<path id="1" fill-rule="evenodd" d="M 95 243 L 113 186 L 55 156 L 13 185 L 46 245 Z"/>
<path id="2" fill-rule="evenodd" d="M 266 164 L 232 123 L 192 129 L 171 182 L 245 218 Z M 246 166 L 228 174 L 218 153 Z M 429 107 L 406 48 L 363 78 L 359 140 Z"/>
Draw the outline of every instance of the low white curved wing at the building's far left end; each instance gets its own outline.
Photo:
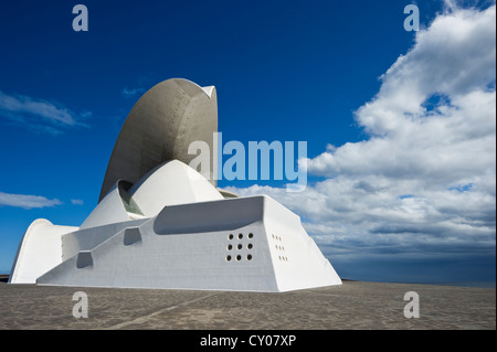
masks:
<path id="1" fill-rule="evenodd" d="M 62 263 L 62 235 L 77 230 L 44 218 L 33 221 L 19 245 L 9 282 L 35 284 L 39 276 Z"/>

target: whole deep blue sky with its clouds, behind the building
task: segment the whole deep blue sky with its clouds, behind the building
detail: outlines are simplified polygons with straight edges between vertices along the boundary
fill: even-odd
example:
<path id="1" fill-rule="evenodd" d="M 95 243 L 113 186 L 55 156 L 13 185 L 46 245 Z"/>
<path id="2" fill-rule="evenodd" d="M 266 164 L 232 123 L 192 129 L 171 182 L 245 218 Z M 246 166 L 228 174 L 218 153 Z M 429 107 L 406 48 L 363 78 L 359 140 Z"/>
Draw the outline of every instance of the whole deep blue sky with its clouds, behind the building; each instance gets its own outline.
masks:
<path id="1" fill-rule="evenodd" d="M 2 1 L 0 271 L 35 218 L 86 218 L 171 77 L 215 85 L 225 141 L 307 141 L 306 191 L 220 185 L 294 210 L 341 277 L 495 287 L 494 1 Z"/>

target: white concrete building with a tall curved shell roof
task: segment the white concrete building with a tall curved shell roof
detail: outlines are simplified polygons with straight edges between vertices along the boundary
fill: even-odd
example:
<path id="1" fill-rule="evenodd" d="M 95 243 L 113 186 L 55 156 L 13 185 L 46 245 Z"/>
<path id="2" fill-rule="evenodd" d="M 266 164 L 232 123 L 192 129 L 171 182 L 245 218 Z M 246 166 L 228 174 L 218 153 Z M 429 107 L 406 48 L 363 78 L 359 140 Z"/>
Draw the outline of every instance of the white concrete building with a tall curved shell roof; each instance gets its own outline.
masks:
<path id="1" fill-rule="evenodd" d="M 296 214 L 266 195 L 222 193 L 215 174 L 208 180 L 188 166 L 190 142 L 213 147 L 216 129 L 214 87 L 180 78 L 152 87 L 123 126 L 95 210 L 80 227 L 34 221 L 10 282 L 245 291 L 340 285 Z"/>

